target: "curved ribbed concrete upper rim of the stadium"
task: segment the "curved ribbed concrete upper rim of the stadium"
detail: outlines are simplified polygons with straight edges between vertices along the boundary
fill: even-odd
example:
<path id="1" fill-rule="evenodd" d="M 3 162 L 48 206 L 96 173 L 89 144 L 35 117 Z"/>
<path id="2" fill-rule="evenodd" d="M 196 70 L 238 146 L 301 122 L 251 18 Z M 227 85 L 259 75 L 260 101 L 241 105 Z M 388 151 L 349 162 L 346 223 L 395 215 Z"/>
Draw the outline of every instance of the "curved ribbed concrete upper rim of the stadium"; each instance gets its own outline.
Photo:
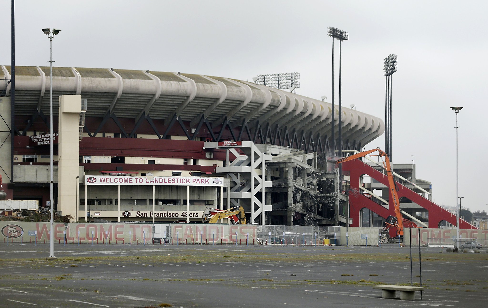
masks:
<path id="1" fill-rule="evenodd" d="M 10 78 L 10 66 L 0 66 L 0 79 Z M 16 115 L 49 110 L 49 67 L 16 66 Z M 5 89 L 6 88 L 6 89 Z M 0 83 L 0 92 L 10 85 Z M 318 99 L 289 93 L 251 82 L 170 72 L 124 69 L 53 67 L 53 100 L 65 94 L 87 99 L 86 116 L 135 118 L 143 113 L 169 122 L 176 113 L 191 125 L 204 116 L 213 126 L 224 118 L 239 126 L 245 119 L 297 132 L 330 135 L 332 106 Z M 363 146 L 383 134 L 381 118 L 343 108 L 343 140 Z M 57 115 L 57 108 L 53 110 Z M 335 119 L 339 116 L 335 105 Z M 337 126 L 337 125 L 336 125 Z M 337 127 L 336 127 L 337 134 Z"/>

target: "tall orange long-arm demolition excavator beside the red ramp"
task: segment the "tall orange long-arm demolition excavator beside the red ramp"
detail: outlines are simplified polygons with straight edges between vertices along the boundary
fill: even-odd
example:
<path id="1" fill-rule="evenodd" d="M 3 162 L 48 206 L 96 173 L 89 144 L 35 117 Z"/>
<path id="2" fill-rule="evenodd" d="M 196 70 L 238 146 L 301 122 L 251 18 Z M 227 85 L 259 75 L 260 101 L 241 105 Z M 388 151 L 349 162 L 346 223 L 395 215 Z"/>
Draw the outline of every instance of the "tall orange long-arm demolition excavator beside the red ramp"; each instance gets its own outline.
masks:
<path id="1" fill-rule="evenodd" d="M 378 154 L 368 155 L 368 154 L 371 154 L 371 153 L 376 152 L 376 151 L 378 151 Z M 390 192 L 390 200 L 393 201 L 393 206 L 394 206 L 393 210 L 395 212 L 395 216 L 389 215 L 386 218 L 385 226 L 383 227 L 383 231 L 387 232 L 387 231 L 389 231 L 389 229 L 391 227 L 395 227 L 397 237 L 399 235 L 401 237 L 403 237 L 404 218 L 402 215 L 402 211 L 400 210 L 400 203 L 399 203 L 398 194 L 397 194 L 398 188 L 396 187 L 395 179 L 393 178 L 393 172 L 391 171 L 390 160 L 388 158 L 388 155 L 385 152 L 383 152 L 382 150 L 380 150 L 380 148 L 376 148 L 373 150 L 360 152 L 357 154 L 353 154 L 353 155 L 341 158 L 341 159 L 335 161 L 335 163 L 340 164 L 340 163 L 343 163 L 343 162 L 346 162 L 349 160 L 353 160 L 356 158 L 364 157 L 364 156 L 380 156 L 380 157 L 384 156 L 385 157 L 385 162 L 383 162 L 383 165 L 385 166 L 386 175 L 388 176 L 388 188 L 389 188 L 389 192 Z M 391 202 L 390 202 L 390 204 L 391 204 Z M 412 227 L 413 227 L 413 225 L 415 225 L 415 224 L 412 223 Z"/>

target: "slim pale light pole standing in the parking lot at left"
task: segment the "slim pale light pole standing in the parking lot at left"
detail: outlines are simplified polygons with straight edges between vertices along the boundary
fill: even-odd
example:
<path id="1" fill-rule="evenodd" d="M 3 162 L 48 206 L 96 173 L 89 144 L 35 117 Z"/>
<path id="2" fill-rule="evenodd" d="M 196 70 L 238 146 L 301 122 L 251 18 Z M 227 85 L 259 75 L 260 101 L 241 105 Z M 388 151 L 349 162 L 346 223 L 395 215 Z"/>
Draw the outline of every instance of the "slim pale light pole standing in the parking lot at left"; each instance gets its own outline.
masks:
<path id="1" fill-rule="evenodd" d="M 50 71 L 49 71 L 49 83 L 51 89 L 51 100 L 50 100 L 50 112 L 49 112 L 49 161 L 50 161 L 50 189 L 49 189 L 49 201 L 50 201 L 50 211 L 49 211 L 49 218 L 50 218 L 50 233 L 49 233 L 49 256 L 46 258 L 48 260 L 56 259 L 54 256 L 54 176 L 53 176 L 53 39 L 54 36 L 61 32 L 60 29 L 54 29 L 51 32 L 51 29 L 45 28 L 41 29 L 45 35 L 49 38 L 50 42 L 50 53 L 49 53 L 49 64 L 50 64 Z"/>

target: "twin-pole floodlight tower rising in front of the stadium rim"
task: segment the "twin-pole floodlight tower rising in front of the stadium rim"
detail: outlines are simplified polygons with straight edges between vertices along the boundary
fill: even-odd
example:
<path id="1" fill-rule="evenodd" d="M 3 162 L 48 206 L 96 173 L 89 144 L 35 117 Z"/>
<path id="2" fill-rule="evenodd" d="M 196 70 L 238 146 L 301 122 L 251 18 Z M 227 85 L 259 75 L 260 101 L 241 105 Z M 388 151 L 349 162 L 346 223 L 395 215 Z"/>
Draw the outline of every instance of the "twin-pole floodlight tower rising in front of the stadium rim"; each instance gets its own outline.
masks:
<path id="1" fill-rule="evenodd" d="M 335 132 L 334 132 L 334 39 L 339 40 L 339 155 L 342 156 L 342 41 L 349 39 L 349 33 L 334 27 L 327 27 L 328 37 L 332 38 L 332 149 L 335 154 Z M 339 166 L 340 169 L 341 166 Z"/>

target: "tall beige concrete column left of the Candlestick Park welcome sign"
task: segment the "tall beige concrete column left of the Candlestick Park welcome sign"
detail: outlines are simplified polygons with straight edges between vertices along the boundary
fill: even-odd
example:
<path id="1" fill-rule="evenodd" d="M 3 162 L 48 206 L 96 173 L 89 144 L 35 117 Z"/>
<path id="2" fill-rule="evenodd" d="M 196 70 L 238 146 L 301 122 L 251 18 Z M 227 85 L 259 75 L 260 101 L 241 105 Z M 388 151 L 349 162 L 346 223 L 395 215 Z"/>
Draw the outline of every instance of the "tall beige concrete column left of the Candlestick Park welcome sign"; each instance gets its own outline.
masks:
<path id="1" fill-rule="evenodd" d="M 58 162 L 58 211 L 76 217 L 76 189 L 73 181 L 79 175 L 81 113 L 80 95 L 59 97 L 59 162 Z M 56 133 L 54 133 L 56 135 Z"/>

